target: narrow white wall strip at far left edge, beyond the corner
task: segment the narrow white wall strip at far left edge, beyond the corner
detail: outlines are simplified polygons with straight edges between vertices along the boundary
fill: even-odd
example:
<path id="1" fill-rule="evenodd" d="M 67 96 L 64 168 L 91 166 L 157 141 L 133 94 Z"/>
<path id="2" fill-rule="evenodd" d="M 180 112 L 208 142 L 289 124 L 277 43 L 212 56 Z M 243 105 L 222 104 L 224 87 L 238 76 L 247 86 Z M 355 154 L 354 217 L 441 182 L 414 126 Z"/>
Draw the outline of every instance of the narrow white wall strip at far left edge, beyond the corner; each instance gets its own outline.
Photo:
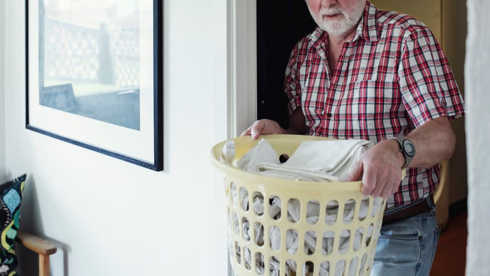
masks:
<path id="1" fill-rule="evenodd" d="M 0 3 L 0 183 L 5 175 L 5 2 Z"/>

